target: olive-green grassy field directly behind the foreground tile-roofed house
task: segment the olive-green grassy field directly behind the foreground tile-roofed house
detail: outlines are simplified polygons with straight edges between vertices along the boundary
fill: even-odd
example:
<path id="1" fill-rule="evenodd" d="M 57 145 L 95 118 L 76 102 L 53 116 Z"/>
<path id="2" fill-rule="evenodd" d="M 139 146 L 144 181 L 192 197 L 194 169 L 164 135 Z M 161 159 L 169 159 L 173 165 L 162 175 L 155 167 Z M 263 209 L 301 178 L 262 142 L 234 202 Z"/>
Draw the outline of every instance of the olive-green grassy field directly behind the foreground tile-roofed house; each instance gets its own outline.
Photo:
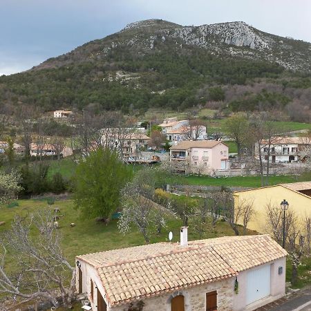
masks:
<path id="1" fill-rule="evenodd" d="M 62 218 L 59 218 L 59 231 L 62 233 L 62 249 L 64 250 L 64 255 L 72 265 L 75 262 L 75 256 L 79 254 L 131 247 L 134 245 L 144 245 L 142 235 L 136 232 L 135 229 L 129 234 L 126 234 L 126 236 L 120 234 L 117 229 L 117 220 L 112 220 L 109 225 L 104 225 L 103 223 L 97 223 L 93 219 L 81 218 L 79 213 L 73 208 L 73 201 L 71 200 L 59 200 L 50 207 L 47 205 L 46 200 L 19 200 L 18 202 L 18 207 L 2 207 L 0 221 L 6 221 L 6 224 L 0 227 L 0 233 L 10 229 L 10 223 L 16 214 L 26 215 L 38 209 L 54 209 L 55 207 L 59 207 L 61 211 L 60 214 L 64 215 Z M 75 223 L 76 226 L 70 227 L 70 223 Z M 180 225 L 180 220 L 170 218 L 167 221 L 167 227 L 163 229 L 160 236 L 158 236 L 156 232 L 151 234 L 151 243 L 168 241 L 169 231 L 173 232 L 173 242 L 179 241 Z M 205 238 L 234 235 L 229 225 L 222 221 L 216 224 L 215 229 L 211 227 L 207 232 Z M 254 232 L 248 233 L 254 234 Z M 198 236 L 196 236 L 194 232 L 191 232 L 190 228 L 189 240 L 191 241 L 196 238 L 198 238 Z M 7 261 L 7 263 L 8 265 L 14 265 L 14 261 Z M 311 282 L 310 270 L 311 259 L 303 258 L 303 265 L 299 267 L 300 279 L 295 285 L 296 288 L 301 288 L 303 285 Z M 290 281 L 291 265 L 289 259 L 286 271 L 287 280 Z M 77 310 L 80 308 L 79 305 L 75 307 Z"/>

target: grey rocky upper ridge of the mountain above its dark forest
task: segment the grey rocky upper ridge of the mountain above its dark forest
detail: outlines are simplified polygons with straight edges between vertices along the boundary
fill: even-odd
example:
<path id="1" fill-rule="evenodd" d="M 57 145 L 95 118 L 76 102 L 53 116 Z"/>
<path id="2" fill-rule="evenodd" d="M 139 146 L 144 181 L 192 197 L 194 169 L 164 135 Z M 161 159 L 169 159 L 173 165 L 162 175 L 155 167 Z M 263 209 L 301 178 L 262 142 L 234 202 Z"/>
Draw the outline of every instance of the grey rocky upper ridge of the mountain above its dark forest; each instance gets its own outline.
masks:
<path id="1" fill-rule="evenodd" d="M 243 21 L 202 26 L 180 26 L 162 19 L 130 23 L 123 30 L 101 40 L 91 41 L 61 57 L 49 59 L 37 68 L 64 66 L 86 59 L 106 58 L 118 47 L 156 51 L 169 41 L 175 50 L 182 45 L 203 48 L 213 55 L 267 60 L 290 70 L 311 72 L 311 44 L 257 30 Z"/>

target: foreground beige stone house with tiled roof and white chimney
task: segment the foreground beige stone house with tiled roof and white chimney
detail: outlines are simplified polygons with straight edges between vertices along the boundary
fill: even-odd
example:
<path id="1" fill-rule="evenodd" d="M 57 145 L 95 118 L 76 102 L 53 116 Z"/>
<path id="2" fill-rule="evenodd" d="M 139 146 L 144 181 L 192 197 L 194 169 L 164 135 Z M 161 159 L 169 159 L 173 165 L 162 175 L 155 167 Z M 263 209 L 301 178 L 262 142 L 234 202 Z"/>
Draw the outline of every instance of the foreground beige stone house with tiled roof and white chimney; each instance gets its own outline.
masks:
<path id="1" fill-rule="evenodd" d="M 247 311 L 285 294 L 287 253 L 270 236 L 156 243 L 76 257 L 94 311 Z"/>

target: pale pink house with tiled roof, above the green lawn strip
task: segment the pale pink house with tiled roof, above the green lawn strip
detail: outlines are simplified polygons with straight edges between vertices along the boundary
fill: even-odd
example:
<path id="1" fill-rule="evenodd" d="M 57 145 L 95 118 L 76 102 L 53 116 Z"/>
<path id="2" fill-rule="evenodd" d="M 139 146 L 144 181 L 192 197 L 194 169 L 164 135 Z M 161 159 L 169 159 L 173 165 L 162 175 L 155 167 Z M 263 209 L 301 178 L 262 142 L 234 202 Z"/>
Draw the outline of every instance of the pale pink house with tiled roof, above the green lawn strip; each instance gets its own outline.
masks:
<path id="1" fill-rule="evenodd" d="M 187 173 L 211 175 L 228 169 L 229 148 L 216 140 L 185 140 L 171 147 L 170 161 L 178 161 Z M 182 165 L 180 165 L 182 168 Z"/>

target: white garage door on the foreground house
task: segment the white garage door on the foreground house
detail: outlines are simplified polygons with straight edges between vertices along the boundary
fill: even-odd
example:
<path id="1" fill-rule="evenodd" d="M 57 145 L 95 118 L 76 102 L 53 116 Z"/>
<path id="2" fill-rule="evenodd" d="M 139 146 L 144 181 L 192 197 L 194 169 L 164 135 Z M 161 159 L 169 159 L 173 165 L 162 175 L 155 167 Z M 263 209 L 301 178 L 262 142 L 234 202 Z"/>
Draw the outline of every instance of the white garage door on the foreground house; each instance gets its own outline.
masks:
<path id="1" fill-rule="evenodd" d="M 270 295 L 270 276 L 270 265 L 247 272 L 247 305 Z"/>

